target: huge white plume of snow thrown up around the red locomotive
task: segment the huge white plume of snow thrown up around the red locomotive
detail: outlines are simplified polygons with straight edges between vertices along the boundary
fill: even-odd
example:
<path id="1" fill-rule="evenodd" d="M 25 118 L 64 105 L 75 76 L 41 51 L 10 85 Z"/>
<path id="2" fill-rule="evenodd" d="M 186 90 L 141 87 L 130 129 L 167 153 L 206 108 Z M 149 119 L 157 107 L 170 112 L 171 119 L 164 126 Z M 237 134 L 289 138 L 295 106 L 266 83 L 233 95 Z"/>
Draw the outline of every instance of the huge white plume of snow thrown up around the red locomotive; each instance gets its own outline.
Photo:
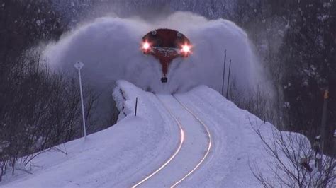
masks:
<path id="1" fill-rule="evenodd" d="M 190 57 L 172 61 L 168 83 L 160 81 L 159 61 L 140 51 L 142 36 L 155 28 L 179 30 L 193 45 Z M 241 28 L 229 20 L 207 20 L 192 13 L 176 12 L 150 21 L 97 18 L 47 45 L 44 57 L 50 66 L 61 70 L 73 70 L 74 62 L 82 61 L 84 80 L 98 88 L 110 88 L 111 83 L 125 79 L 155 93 L 181 93 L 202 84 L 220 91 L 225 49 L 225 77 L 232 59 L 230 80 L 235 80 L 238 90 L 255 89 L 259 83 L 271 90 Z"/>

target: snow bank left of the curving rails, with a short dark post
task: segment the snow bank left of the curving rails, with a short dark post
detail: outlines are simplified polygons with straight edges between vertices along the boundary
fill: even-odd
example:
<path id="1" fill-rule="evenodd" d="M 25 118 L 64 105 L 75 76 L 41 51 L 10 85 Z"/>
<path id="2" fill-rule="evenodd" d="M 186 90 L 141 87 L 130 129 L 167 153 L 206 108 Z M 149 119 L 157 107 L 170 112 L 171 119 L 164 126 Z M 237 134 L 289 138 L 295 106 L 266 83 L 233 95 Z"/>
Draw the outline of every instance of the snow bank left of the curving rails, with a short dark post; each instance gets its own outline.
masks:
<path id="1" fill-rule="evenodd" d="M 32 162 L 33 174 L 8 173 L 1 187 L 130 187 L 164 163 L 178 142 L 171 135 L 178 131 L 174 122 L 152 93 L 125 81 L 117 85 L 114 98 L 123 115 L 116 125 L 86 140 L 65 143 L 67 155 L 55 150 L 38 155 Z M 123 95 L 118 94 L 121 90 Z M 57 148 L 65 150 L 62 145 Z"/>

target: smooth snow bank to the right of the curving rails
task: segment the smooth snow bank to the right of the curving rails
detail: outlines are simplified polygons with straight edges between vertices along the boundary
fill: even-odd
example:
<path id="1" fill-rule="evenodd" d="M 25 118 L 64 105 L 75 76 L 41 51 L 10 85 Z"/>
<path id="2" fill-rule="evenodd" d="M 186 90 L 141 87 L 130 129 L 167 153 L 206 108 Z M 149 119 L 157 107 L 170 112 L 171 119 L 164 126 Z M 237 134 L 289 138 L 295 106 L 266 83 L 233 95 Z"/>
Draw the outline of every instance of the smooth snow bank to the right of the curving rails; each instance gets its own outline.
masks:
<path id="1" fill-rule="evenodd" d="M 272 124 L 264 124 L 254 114 L 238 108 L 207 86 L 199 86 L 189 93 L 177 95 L 177 98 L 208 124 L 213 136 L 213 151 L 206 165 L 182 182 L 182 187 L 198 187 L 200 184 L 202 187 L 260 187 L 250 168 L 254 164 L 270 181 L 276 181 L 268 166 L 274 158 L 266 152 L 264 143 L 252 127 L 259 130 L 271 145 L 273 135 L 282 134 L 285 140 L 298 139 L 304 142 L 302 146 L 310 148 L 305 136 L 280 132 Z M 282 154 L 280 157 L 291 168 L 289 160 Z"/>

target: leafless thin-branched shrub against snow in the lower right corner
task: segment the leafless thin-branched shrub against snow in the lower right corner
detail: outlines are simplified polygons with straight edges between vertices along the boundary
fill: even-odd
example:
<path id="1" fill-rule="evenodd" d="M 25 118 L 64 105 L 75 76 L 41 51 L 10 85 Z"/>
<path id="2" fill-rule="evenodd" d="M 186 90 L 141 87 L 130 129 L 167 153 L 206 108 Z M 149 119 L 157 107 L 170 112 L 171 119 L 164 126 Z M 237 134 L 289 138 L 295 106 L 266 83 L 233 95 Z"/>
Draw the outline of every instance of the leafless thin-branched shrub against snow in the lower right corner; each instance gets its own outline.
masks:
<path id="1" fill-rule="evenodd" d="M 268 170 L 272 175 L 262 172 L 256 163 L 250 163 L 254 177 L 264 187 L 335 187 L 336 160 L 323 155 L 317 168 L 306 136 L 275 128 L 267 135 L 261 124 L 251 121 L 250 124 L 269 155 Z"/>

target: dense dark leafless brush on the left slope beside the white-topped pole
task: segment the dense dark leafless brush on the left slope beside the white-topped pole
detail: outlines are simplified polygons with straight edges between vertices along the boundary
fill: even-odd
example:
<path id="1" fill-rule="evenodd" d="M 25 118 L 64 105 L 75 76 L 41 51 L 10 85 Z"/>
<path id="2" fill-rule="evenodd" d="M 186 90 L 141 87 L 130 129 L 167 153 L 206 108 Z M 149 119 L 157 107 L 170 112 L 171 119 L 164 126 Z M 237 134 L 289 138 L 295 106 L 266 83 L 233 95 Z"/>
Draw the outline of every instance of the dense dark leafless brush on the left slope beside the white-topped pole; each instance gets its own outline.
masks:
<path id="1" fill-rule="evenodd" d="M 39 59 L 18 59 L 0 83 L 1 174 L 13 174 L 17 163 L 25 167 L 43 151 L 82 136 L 77 80 L 50 72 Z M 86 118 L 93 122 L 98 95 L 84 93 Z"/>

